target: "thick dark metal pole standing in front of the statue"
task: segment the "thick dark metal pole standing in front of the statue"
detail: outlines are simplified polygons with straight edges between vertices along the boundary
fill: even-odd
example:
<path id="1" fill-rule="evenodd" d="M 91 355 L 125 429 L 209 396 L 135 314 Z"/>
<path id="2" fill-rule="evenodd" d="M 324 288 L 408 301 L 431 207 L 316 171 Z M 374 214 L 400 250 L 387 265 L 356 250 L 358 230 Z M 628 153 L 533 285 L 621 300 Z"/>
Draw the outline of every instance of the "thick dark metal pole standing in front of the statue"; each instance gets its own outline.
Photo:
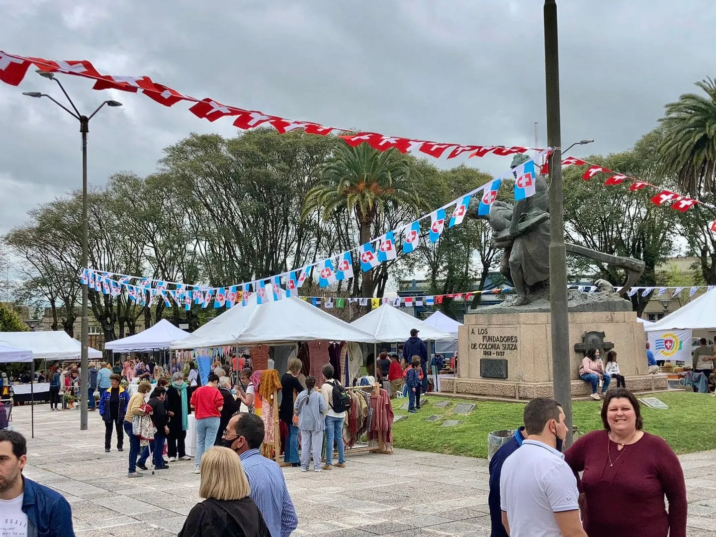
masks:
<path id="1" fill-rule="evenodd" d="M 569 352 L 569 312 L 567 309 L 567 266 L 564 246 L 564 218 L 562 200 L 561 126 L 559 117 L 559 46 L 557 32 L 557 4 L 544 2 L 544 67 L 547 105 L 547 144 L 554 147 L 549 174 L 550 241 L 549 294 L 552 329 L 552 379 L 554 398 L 561 403 L 566 416 L 567 438 L 571 444 L 572 402 Z"/>

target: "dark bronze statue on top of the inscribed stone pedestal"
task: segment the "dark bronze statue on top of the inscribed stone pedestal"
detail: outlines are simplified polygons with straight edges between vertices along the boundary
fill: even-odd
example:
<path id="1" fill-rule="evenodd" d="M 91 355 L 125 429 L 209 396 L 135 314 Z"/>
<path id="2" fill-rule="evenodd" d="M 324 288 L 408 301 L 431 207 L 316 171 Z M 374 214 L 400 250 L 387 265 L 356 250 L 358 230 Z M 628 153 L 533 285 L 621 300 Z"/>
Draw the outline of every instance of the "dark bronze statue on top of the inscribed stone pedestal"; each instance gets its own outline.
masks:
<path id="1" fill-rule="evenodd" d="M 516 155 L 511 168 L 527 160 L 526 155 Z M 528 304 L 528 295 L 545 288 L 549 282 L 549 190 L 545 178 L 537 175 L 535 194 L 530 198 L 518 200 L 514 205 L 496 200 L 488 216 L 478 216 L 477 208 L 470 208 L 468 218 L 483 218 L 490 223 L 495 246 L 504 249 L 500 273 L 512 282 L 517 293 L 512 305 Z M 637 259 L 611 256 L 569 243 L 566 249 L 568 253 L 627 271 L 627 281 L 619 291 L 624 297 L 644 272 L 644 262 Z"/>

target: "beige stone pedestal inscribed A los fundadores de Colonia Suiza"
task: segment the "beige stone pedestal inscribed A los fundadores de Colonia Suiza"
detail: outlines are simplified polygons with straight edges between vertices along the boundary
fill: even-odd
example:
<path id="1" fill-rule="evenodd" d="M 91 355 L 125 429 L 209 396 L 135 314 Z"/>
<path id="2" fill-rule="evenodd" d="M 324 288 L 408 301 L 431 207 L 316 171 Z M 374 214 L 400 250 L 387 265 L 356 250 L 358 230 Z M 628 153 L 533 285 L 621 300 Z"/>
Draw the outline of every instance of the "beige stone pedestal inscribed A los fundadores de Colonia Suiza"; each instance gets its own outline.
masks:
<path id="1" fill-rule="evenodd" d="M 550 314 L 498 311 L 465 316 L 458 332 L 457 377 L 442 379 L 441 391 L 517 400 L 552 397 Z M 571 311 L 572 397 L 591 393 L 591 385 L 579 378 L 584 352 L 574 350 L 587 332 L 604 332 L 604 341 L 614 345 L 629 390 L 667 389 L 666 375 L 649 374 L 644 326 L 634 311 Z M 606 352 L 602 359 L 606 363 Z M 611 386 L 616 387 L 615 379 Z"/>

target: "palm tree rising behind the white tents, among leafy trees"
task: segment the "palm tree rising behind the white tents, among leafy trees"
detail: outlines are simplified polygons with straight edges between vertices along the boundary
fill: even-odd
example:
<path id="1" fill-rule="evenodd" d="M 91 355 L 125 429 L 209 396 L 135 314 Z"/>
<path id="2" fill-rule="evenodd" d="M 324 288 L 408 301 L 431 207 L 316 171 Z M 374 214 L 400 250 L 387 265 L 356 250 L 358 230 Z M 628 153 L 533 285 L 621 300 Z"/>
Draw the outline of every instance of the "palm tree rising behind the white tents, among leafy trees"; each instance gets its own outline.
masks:
<path id="1" fill-rule="evenodd" d="M 352 213 L 359 230 L 359 241 L 372 238 L 376 219 L 397 208 L 417 213 L 424 205 L 407 179 L 411 173 L 407 158 L 397 150 L 378 151 L 367 143 L 351 147 L 340 143 L 334 158 L 321 170 L 321 180 L 309 190 L 303 217 L 319 210 L 324 219 L 334 213 Z M 373 295 L 371 272 L 363 274 L 362 296 Z"/>

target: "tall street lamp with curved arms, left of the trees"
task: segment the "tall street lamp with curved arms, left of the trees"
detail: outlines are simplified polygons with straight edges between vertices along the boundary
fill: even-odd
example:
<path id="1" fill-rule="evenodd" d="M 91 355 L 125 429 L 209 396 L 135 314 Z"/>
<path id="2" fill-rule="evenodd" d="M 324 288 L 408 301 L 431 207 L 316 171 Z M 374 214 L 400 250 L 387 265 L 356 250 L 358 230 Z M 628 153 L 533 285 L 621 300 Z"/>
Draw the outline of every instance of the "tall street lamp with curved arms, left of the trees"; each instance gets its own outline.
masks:
<path id="1" fill-rule="evenodd" d="M 67 92 L 64 90 L 64 87 L 62 87 L 62 83 L 59 82 L 57 78 L 54 77 L 54 74 L 52 72 L 48 71 L 42 71 L 41 69 L 37 70 L 37 73 L 44 78 L 54 80 L 57 82 L 57 85 L 59 86 L 59 89 L 62 89 L 62 93 L 65 97 L 67 97 L 67 101 L 69 102 L 69 105 L 72 107 L 72 110 L 69 110 L 66 106 L 64 106 L 61 102 L 57 102 L 53 97 L 50 95 L 47 95 L 46 93 L 40 93 L 40 92 L 23 92 L 22 95 L 27 95 L 28 97 L 47 97 L 49 100 L 54 102 L 55 105 L 59 106 L 67 112 L 69 115 L 74 117 L 77 121 L 79 121 L 79 132 L 82 133 L 82 266 L 84 268 L 87 268 L 89 262 L 87 261 L 88 258 L 88 238 L 87 238 L 87 133 L 89 132 L 89 120 L 92 119 L 92 117 L 95 117 L 95 114 L 99 112 L 103 106 L 111 106 L 111 107 L 117 107 L 122 106 L 121 102 L 117 101 L 105 101 L 102 102 L 100 106 L 97 107 L 97 110 L 92 112 L 89 116 L 82 115 L 79 113 L 79 110 L 77 110 L 77 107 L 74 106 L 74 102 L 72 102 L 72 99 L 69 98 L 69 95 L 67 95 Z M 74 112 L 73 112 L 74 110 Z M 79 429 L 80 430 L 87 430 L 87 405 L 89 401 L 87 400 L 88 397 L 93 397 L 92 395 L 89 395 L 89 390 L 87 387 L 89 386 L 89 360 L 88 360 L 88 354 L 87 354 L 87 347 L 89 347 L 89 313 L 87 311 L 87 286 L 82 286 L 82 355 L 81 355 L 81 362 L 80 367 L 82 368 L 82 374 L 80 377 L 80 398 L 79 398 Z"/>

